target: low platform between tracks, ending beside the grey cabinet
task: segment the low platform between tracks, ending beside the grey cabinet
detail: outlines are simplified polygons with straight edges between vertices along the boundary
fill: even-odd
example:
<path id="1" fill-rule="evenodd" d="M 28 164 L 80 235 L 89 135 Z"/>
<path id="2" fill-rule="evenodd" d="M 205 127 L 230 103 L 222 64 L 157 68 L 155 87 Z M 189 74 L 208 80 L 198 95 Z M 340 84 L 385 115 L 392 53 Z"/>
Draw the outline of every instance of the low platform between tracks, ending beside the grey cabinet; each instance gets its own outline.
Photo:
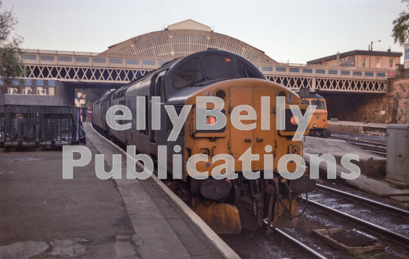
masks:
<path id="1" fill-rule="evenodd" d="M 336 160 L 336 178 L 344 181 L 365 192 L 378 197 L 390 197 L 397 202 L 409 202 L 409 189 L 396 189 L 385 180 L 386 158 L 376 155 L 370 151 L 356 147 L 353 144 L 324 138 L 306 136 L 303 140 L 303 159 L 309 165 L 311 154 L 330 154 Z M 350 173 L 340 163 L 340 158 L 346 154 L 356 154 L 359 162 L 353 161 L 361 169 L 361 173 L 356 179 L 343 179 L 341 172 Z M 327 163 L 320 163 L 319 169 L 328 172 Z M 326 180 L 326 179 L 325 179 Z"/>

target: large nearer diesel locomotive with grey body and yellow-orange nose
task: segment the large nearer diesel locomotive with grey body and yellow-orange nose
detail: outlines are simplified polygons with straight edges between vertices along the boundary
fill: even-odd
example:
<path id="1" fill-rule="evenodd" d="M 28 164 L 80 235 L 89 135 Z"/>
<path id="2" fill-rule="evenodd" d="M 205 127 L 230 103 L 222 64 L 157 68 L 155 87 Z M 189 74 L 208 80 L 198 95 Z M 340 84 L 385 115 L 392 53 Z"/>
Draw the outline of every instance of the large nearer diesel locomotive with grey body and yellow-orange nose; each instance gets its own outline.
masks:
<path id="1" fill-rule="evenodd" d="M 199 104 L 200 97 L 217 102 Z M 285 111 L 280 127 L 277 97 Z M 116 105 L 130 111 L 127 119 L 117 120 L 130 128 L 110 127 L 106 113 Z M 297 94 L 267 81 L 245 58 L 210 49 L 169 61 L 108 92 L 94 103 L 93 127 L 148 154 L 158 170 L 164 167 L 159 147 L 165 148 L 166 185 L 216 233 L 238 233 L 256 230 L 264 219 L 269 227 L 296 225 L 297 197 L 315 186 L 308 170 L 293 180 L 278 170 L 281 157 L 302 157 L 302 142 L 293 140 L 299 118 L 290 106 L 304 114 L 307 109 Z M 215 109 L 217 115 L 208 114 Z M 173 139 L 176 128 L 181 130 Z M 284 166 L 289 173 L 297 169 L 293 160 Z M 204 174 L 208 177 L 198 177 Z"/>

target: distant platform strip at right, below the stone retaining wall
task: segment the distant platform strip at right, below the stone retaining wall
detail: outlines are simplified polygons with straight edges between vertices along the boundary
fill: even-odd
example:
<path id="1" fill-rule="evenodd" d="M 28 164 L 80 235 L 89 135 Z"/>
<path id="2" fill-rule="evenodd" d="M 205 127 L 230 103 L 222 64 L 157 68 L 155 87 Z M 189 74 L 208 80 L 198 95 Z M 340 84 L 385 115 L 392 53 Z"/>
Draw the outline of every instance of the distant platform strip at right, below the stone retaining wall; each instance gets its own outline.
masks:
<path id="1" fill-rule="evenodd" d="M 345 131 L 386 137 L 386 124 L 329 120 L 327 127 L 331 131 Z"/>

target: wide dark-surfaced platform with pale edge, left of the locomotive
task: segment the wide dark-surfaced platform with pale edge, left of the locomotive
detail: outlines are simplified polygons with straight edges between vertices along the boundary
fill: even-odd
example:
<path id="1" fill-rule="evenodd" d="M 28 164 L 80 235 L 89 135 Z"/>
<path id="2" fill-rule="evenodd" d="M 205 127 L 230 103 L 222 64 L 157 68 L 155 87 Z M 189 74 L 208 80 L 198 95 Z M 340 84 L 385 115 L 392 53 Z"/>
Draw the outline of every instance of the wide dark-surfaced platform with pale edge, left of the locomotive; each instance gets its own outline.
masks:
<path id="1" fill-rule="evenodd" d="M 126 155 L 84 129 L 92 159 L 73 179 L 61 150 L 0 149 L 0 258 L 239 258 L 154 175 L 126 179 Z M 106 171 L 122 154 L 122 178 L 99 179 L 95 154 Z"/>

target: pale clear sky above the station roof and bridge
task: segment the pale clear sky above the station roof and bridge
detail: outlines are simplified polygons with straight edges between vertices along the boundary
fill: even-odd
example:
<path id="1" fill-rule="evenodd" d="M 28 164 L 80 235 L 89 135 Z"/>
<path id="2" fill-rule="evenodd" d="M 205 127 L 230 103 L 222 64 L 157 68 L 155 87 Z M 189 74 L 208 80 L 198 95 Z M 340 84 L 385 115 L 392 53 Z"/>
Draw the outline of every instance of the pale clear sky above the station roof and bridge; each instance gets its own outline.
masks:
<path id="1" fill-rule="evenodd" d="M 192 19 L 265 52 L 302 63 L 337 52 L 403 52 L 392 21 L 401 0 L 2 0 L 22 48 L 100 53 L 116 43 Z M 401 59 L 403 62 L 403 59 Z"/>

